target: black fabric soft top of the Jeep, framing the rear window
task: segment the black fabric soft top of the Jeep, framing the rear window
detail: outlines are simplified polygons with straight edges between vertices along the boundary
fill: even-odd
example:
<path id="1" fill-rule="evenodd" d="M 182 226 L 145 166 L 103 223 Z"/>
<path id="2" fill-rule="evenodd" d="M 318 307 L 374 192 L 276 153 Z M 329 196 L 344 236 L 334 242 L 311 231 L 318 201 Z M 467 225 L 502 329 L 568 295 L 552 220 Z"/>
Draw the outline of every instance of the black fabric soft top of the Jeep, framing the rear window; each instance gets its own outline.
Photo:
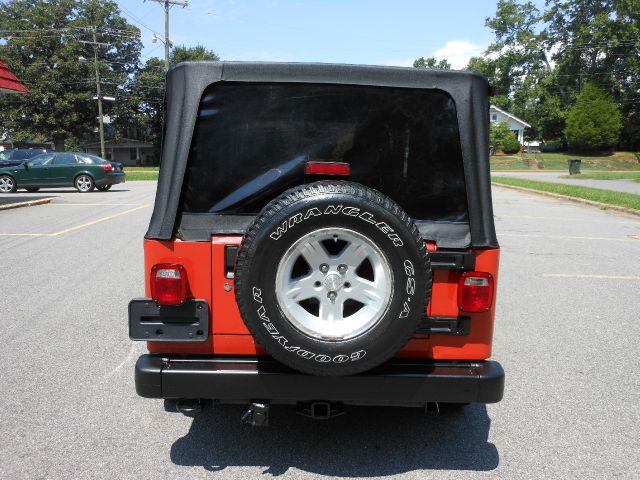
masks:
<path id="1" fill-rule="evenodd" d="M 167 75 L 166 132 L 155 206 L 146 238 L 208 240 L 243 233 L 252 218 L 190 215 L 180 211 L 183 180 L 203 93 L 218 82 L 338 84 L 437 89 L 457 112 L 467 193 L 468 224 L 418 223 L 425 239 L 441 247 L 497 247 L 489 175 L 489 85 L 483 76 L 459 71 L 318 63 L 185 62 Z M 247 112 L 251 115 L 251 112 Z"/>

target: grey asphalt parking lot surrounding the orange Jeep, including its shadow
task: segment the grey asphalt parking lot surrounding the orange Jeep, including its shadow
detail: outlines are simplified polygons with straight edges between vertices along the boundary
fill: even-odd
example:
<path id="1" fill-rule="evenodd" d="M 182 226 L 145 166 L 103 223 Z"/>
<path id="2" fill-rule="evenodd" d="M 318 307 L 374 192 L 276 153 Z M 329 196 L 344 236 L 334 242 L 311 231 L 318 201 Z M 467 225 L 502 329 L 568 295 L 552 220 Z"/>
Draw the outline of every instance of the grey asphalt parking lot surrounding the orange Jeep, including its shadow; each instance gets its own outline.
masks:
<path id="1" fill-rule="evenodd" d="M 640 219 L 495 190 L 505 399 L 462 415 L 138 398 L 126 304 L 154 185 L 0 212 L 0 478 L 638 478 Z M 595 276 L 591 277 L 591 276 Z"/>

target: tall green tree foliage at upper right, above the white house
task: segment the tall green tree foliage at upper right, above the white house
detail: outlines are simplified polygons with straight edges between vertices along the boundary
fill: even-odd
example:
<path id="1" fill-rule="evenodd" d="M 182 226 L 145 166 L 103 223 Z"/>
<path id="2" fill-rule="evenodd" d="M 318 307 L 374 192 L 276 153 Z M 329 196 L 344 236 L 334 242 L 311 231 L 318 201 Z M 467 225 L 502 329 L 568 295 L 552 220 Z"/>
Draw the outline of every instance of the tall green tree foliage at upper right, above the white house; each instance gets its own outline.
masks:
<path id="1" fill-rule="evenodd" d="M 537 4 L 541 4 L 538 2 Z M 591 81 L 621 107 L 621 145 L 640 147 L 640 2 L 499 0 L 495 39 L 468 70 L 487 76 L 492 102 L 530 123 L 529 138 L 563 138 L 567 111 Z"/>

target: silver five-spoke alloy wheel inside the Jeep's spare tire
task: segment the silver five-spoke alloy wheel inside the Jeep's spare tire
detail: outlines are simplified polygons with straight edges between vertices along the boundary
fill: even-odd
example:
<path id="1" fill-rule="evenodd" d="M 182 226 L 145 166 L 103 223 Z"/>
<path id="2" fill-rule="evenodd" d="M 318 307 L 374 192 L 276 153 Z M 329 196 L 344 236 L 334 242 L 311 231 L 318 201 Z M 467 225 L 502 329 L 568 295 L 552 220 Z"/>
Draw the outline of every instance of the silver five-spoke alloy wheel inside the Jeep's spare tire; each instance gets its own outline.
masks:
<path id="1" fill-rule="evenodd" d="M 320 340 L 348 340 L 370 330 L 393 293 L 389 262 L 367 237 L 325 228 L 294 243 L 276 272 L 276 297 L 287 319 Z"/>

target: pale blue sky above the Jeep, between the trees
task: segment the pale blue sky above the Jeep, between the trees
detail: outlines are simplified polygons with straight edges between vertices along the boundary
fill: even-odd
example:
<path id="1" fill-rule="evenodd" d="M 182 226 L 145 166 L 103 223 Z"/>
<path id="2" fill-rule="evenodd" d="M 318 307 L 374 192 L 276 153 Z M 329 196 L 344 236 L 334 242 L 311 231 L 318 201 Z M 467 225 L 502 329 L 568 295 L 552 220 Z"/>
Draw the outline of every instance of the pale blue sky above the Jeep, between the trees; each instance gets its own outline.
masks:
<path id="1" fill-rule="evenodd" d="M 536 2 L 538 3 L 538 2 Z M 164 8 L 119 0 L 140 28 L 142 59 L 164 58 Z M 202 44 L 223 60 L 411 66 L 446 58 L 463 68 L 492 42 L 496 0 L 189 0 L 170 10 L 174 45 Z"/>

